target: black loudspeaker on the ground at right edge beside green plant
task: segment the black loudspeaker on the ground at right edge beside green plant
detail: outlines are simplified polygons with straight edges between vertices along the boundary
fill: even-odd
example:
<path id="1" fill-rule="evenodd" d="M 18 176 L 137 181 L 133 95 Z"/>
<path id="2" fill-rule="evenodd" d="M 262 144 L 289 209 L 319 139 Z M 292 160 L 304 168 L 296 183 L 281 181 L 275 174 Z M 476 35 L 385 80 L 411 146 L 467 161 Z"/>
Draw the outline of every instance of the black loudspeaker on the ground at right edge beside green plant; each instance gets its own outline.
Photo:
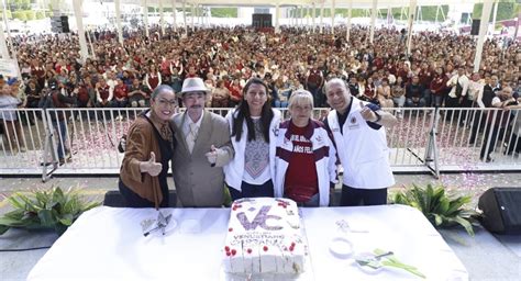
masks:
<path id="1" fill-rule="evenodd" d="M 478 207 L 489 232 L 521 234 L 521 188 L 491 188 L 479 198 Z"/>

